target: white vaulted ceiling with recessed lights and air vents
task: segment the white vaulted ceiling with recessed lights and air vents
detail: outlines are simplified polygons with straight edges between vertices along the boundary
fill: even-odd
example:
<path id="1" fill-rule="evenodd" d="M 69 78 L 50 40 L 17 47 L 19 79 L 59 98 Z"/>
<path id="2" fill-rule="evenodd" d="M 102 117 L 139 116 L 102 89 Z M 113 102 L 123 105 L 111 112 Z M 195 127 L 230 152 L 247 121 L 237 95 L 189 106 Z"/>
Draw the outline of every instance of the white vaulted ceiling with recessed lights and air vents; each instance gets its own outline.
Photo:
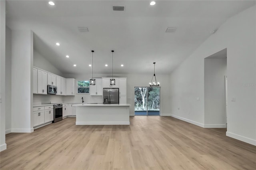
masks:
<path id="1" fill-rule="evenodd" d="M 34 49 L 63 73 L 90 73 L 91 50 L 94 73 L 111 73 L 113 49 L 115 73 L 152 73 L 156 62 L 156 72 L 162 74 L 169 74 L 228 18 L 255 5 L 244 0 L 158 0 L 154 6 L 148 0 L 54 3 L 7 0 L 6 25 L 32 30 Z M 112 6 L 125 10 L 113 11 Z M 87 27 L 88 32 L 79 32 L 78 27 Z M 166 33 L 170 27 L 176 31 Z"/>

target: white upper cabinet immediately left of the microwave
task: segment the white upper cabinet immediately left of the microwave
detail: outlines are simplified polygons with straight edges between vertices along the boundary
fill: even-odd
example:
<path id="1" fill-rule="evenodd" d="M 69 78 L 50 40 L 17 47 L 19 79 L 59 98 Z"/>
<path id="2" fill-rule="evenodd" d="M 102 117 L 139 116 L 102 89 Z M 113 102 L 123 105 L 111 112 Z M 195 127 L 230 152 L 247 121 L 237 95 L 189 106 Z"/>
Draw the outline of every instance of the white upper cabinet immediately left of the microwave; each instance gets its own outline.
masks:
<path id="1" fill-rule="evenodd" d="M 47 95 L 47 73 L 37 70 L 37 93 Z"/>

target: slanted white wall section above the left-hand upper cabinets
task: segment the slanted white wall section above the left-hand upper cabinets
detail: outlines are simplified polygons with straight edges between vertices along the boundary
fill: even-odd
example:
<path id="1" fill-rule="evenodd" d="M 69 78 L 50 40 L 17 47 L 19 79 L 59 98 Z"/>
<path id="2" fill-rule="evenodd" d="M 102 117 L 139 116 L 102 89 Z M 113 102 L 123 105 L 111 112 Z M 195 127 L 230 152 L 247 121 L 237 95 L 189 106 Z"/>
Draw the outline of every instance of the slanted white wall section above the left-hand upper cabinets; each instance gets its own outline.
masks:
<path id="1" fill-rule="evenodd" d="M 38 53 L 36 49 L 34 49 L 34 59 L 33 59 L 33 65 L 35 67 L 38 67 L 40 69 L 49 71 L 51 73 L 54 73 L 56 75 L 62 76 L 63 74 L 60 70 L 58 70 L 52 63 L 50 63 L 43 55 Z"/>

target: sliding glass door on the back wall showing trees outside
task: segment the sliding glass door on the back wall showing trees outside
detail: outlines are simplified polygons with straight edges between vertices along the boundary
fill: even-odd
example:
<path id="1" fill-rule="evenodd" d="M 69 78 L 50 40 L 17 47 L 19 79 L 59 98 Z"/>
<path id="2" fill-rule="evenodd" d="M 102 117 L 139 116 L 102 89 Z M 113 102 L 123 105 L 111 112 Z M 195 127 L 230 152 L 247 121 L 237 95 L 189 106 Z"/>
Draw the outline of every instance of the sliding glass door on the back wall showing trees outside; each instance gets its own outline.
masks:
<path id="1" fill-rule="evenodd" d="M 160 87 L 134 87 L 134 115 L 160 116 Z"/>

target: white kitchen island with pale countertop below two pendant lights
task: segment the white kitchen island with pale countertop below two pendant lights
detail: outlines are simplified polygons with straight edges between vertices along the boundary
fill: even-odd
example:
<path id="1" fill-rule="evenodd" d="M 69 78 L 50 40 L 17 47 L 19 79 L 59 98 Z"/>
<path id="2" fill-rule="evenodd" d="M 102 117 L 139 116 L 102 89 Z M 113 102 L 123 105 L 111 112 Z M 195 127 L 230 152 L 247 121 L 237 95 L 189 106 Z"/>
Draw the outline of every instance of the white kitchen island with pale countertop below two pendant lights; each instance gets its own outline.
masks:
<path id="1" fill-rule="evenodd" d="M 76 125 L 130 125 L 130 104 L 77 104 Z"/>

